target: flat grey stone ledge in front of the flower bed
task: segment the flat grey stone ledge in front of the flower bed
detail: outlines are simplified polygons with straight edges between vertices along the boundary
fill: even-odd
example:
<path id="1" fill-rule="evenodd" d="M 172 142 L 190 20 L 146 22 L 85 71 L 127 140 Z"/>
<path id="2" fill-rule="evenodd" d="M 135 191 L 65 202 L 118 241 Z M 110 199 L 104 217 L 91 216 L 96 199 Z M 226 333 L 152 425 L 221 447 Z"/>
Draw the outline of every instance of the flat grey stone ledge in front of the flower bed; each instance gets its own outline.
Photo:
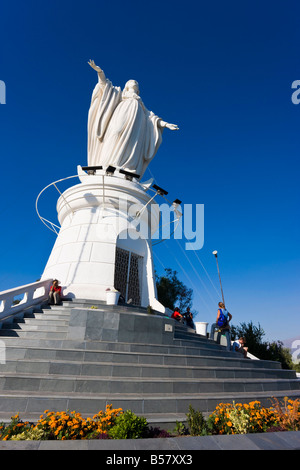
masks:
<path id="1" fill-rule="evenodd" d="M 0 441 L 0 450 L 133 450 L 180 452 L 181 455 L 198 450 L 300 450 L 300 431 L 163 439 Z"/>

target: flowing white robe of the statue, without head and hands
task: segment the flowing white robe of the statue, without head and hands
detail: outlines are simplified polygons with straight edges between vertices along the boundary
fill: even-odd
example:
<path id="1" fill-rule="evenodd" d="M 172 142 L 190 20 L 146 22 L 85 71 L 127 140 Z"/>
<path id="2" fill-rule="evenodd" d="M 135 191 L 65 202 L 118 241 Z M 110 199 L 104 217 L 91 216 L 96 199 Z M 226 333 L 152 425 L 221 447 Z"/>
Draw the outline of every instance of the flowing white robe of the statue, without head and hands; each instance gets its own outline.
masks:
<path id="1" fill-rule="evenodd" d="M 141 99 L 109 80 L 94 88 L 88 116 L 88 165 L 109 165 L 142 176 L 162 142 L 159 117 Z"/>

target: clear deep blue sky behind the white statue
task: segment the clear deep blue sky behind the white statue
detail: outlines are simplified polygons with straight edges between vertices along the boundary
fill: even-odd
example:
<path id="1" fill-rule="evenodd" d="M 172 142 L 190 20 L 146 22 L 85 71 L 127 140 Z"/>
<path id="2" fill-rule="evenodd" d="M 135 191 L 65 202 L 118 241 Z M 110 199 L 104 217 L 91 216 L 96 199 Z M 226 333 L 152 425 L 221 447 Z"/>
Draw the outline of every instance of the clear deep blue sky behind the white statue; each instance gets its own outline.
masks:
<path id="1" fill-rule="evenodd" d="M 299 337 L 299 14 L 296 0 L 4 0 L 0 290 L 44 270 L 55 235 L 35 200 L 87 164 L 94 59 L 115 85 L 138 80 L 147 108 L 179 125 L 149 168 L 170 199 L 205 206 L 197 256 L 209 277 L 183 241 L 154 247 L 157 271 L 177 270 L 197 320 L 211 323 L 217 249 L 233 323 Z M 46 194 L 40 210 L 55 222 L 57 194 Z"/>

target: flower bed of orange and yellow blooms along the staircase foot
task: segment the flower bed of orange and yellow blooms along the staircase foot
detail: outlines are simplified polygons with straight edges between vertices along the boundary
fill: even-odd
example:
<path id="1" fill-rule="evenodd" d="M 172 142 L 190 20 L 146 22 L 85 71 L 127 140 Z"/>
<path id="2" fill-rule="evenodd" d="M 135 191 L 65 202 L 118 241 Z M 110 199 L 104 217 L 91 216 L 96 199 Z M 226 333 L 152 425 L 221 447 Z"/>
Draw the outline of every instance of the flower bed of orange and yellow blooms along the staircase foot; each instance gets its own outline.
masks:
<path id="1" fill-rule="evenodd" d="M 246 434 L 268 431 L 299 431 L 300 401 L 284 398 L 283 403 L 273 399 L 265 408 L 259 401 L 249 404 L 221 403 L 205 419 L 191 405 L 186 427 L 176 423 L 172 432 L 149 427 L 147 420 L 132 411 L 113 409 L 107 405 L 93 418 L 80 413 L 46 410 L 37 423 L 23 422 L 19 414 L 7 425 L 0 425 L 1 440 L 76 440 L 76 439 L 139 439 L 178 435 Z"/>

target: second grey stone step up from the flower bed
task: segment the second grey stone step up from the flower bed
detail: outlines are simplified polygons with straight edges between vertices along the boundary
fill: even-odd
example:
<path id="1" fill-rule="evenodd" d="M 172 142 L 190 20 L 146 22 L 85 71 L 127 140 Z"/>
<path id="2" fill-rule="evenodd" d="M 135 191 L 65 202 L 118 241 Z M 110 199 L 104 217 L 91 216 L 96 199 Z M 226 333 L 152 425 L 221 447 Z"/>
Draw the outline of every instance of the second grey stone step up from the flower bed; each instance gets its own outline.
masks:
<path id="1" fill-rule="evenodd" d="M 139 394 L 199 394 L 211 393 L 247 393 L 269 392 L 280 390 L 298 390 L 300 382 L 284 379 L 243 378 L 243 379 L 194 379 L 162 377 L 92 377 L 67 376 L 58 374 L 26 374 L 14 372 L 0 373 L 0 391 L 47 391 L 65 393 L 130 393 Z"/>

